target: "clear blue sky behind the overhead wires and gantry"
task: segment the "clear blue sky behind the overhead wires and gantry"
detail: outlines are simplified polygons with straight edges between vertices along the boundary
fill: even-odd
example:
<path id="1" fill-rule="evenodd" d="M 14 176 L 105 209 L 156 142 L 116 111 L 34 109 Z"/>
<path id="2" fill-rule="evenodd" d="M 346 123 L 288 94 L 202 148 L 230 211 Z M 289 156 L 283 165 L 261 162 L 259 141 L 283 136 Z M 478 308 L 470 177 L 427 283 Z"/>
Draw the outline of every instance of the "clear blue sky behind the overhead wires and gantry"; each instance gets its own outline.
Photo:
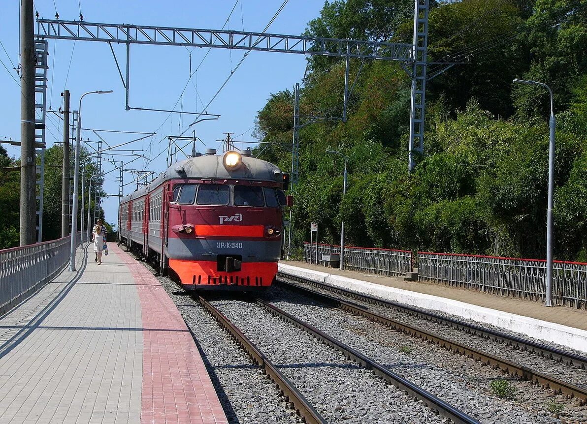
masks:
<path id="1" fill-rule="evenodd" d="M 87 22 L 132 23 L 136 25 L 179 26 L 184 28 L 220 29 L 227 21 L 236 0 L 220 1 L 114 1 L 114 0 L 37 0 L 35 8 L 43 18 L 53 19 L 55 9 L 63 20 L 79 19 L 80 9 Z M 282 0 L 239 0 L 227 29 L 257 32 L 265 28 Z M 297 35 L 305 30 L 307 23 L 319 15 L 322 0 L 291 1 L 281 12 L 268 32 Z M 19 2 L 3 1 L 0 13 L 0 40 L 6 49 L 0 48 L 0 59 L 8 67 L 18 65 Z M 36 28 L 36 26 L 35 26 Z M 120 66 L 124 70 L 124 46 L 113 45 Z M 194 70 L 208 49 L 192 49 L 191 64 Z M 113 94 L 90 95 L 83 100 L 83 127 L 124 131 L 157 131 L 157 135 L 130 144 L 131 148 L 143 149 L 148 157 L 156 156 L 166 150 L 167 139 L 159 141 L 168 134 L 183 131 L 191 122 L 190 116 L 152 111 L 124 110 L 124 88 L 114 64 L 110 48 L 106 43 L 76 42 L 69 40 L 49 40 L 49 88 L 48 106 L 57 110 L 62 106 L 62 91 L 71 92 L 72 108 L 77 109 L 79 96 L 86 91 L 114 90 Z M 200 69 L 193 76 L 193 84 L 188 84 L 182 100 L 176 107 L 184 111 L 201 111 L 214 93 L 220 88 L 231 69 L 237 65 L 244 51 L 212 49 Z M 190 52 L 185 47 L 175 46 L 131 46 L 130 106 L 171 109 L 180 97 L 190 75 Z M 12 62 L 12 64 L 11 64 Z M 231 65 L 232 64 L 232 65 Z M 232 67 L 231 67 L 232 66 Z M 301 82 L 306 60 L 303 55 L 285 53 L 251 52 L 230 82 L 221 91 L 208 113 L 220 114 L 218 121 L 204 121 L 195 125 L 196 135 L 205 147 L 220 148 L 219 140 L 226 132 L 235 133 L 239 140 L 251 141 L 255 116 L 269 94 L 291 88 Z M 14 71 L 12 75 L 18 80 Z M 11 74 L 0 65 L 0 137 L 20 140 L 20 92 Z M 197 91 L 196 91 L 197 88 Z M 62 125 L 58 118 L 48 114 L 48 147 L 55 141 L 62 141 Z M 51 116 L 51 117 L 49 117 Z M 165 122 L 164 122 L 165 121 Z M 161 126 L 162 125 L 162 126 Z M 242 135 L 239 135 L 242 134 Z M 138 136 L 131 134 L 104 134 L 110 144 L 119 144 Z M 84 139 L 97 140 L 90 131 L 82 134 Z M 95 145 L 95 144 L 94 144 Z M 6 145 L 5 145 L 6 146 Z M 242 147 L 238 145 L 238 147 Z M 125 147 L 126 148 L 126 147 Z M 186 149 L 188 152 L 190 149 Z M 20 157 L 20 150 L 8 147 L 12 156 Z M 117 160 L 130 160 L 118 158 Z M 141 169 L 143 160 L 134 161 L 129 167 Z M 104 162 L 105 172 L 113 165 Z M 166 153 L 163 153 L 146 168 L 161 172 L 166 169 Z M 115 182 L 118 171 L 106 175 L 104 189 L 117 194 Z M 133 181 L 133 175 L 124 176 L 125 183 Z M 124 194 L 129 194 L 136 184 L 126 185 Z M 103 208 L 109 222 L 117 221 L 117 198 L 106 198 Z"/>

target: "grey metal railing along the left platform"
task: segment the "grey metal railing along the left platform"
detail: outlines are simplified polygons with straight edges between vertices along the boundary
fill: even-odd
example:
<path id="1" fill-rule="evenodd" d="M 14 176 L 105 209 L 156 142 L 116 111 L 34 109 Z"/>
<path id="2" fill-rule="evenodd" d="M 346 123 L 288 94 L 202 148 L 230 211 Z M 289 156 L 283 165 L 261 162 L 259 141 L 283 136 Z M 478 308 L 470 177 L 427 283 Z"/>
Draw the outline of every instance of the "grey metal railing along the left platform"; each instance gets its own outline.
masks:
<path id="1" fill-rule="evenodd" d="M 80 243 L 81 233 L 77 233 Z M 70 236 L 0 250 L 0 314 L 48 283 L 69 262 Z"/>

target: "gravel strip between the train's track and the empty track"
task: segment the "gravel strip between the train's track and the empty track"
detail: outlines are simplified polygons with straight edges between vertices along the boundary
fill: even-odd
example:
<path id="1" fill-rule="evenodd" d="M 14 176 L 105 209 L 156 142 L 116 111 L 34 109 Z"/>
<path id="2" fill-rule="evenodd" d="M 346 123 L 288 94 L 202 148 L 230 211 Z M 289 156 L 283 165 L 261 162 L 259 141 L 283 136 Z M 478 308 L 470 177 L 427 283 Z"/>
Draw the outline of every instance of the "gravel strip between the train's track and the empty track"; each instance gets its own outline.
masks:
<path id="1" fill-rule="evenodd" d="M 560 422 L 546 411 L 545 403 L 552 401 L 553 396 L 539 386 L 508 378 L 501 371 L 486 367 L 471 358 L 452 354 L 444 348 L 399 333 L 382 324 L 372 323 L 366 318 L 325 307 L 325 304 L 288 290 L 274 287 L 266 299 L 382 362 L 481 422 Z M 374 309 L 372 304 L 369 307 Z M 415 324 L 413 321 L 409 322 Z M 491 394 L 489 384 L 497 378 L 507 378 L 517 388 L 514 399 L 499 399 Z M 585 406 L 578 406 L 576 401 L 565 401 L 561 396 L 557 397 L 558 402 L 565 405 L 564 422 L 585 422 Z"/>

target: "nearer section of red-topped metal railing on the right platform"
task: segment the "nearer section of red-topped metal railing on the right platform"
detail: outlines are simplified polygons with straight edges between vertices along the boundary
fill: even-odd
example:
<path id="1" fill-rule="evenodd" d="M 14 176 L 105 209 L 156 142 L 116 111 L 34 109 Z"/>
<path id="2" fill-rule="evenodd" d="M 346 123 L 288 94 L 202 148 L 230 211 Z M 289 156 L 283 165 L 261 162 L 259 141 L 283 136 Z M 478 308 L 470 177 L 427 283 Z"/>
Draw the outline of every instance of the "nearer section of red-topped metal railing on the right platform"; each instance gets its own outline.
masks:
<path id="1" fill-rule="evenodd" d="M 539 259 L 418 252 L 420 280 L 520 299 L 545 300 L 545 270 Z M 585 308 L 587 263 L 554 261 L 552 273 L 552 300 Z"/>

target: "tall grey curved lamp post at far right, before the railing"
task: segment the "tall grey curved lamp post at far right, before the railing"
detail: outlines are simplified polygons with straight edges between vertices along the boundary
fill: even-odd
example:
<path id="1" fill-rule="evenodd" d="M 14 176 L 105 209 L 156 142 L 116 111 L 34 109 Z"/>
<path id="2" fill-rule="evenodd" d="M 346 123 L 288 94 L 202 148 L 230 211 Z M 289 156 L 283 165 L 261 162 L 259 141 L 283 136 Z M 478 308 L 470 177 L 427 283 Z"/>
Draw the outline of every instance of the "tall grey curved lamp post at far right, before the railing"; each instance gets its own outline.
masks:
<path id="1" fill-rule="evenodd" d="M 544 83 L 532 80 L 515 79 L 515 83 L 537 85 L 546 87 L 551 96 L 551 116 L 549 120 L 549 143 L 548 143 L 548 206 L 546 208 L 546 302 L 545 306 L 552 306 L 552 243 L 554 233 L 554 223 L 552 222 L 552 209 L 554 206 L 554 136 L 556 120 L 554 117 L 554 101 L 552 99 L 552 90 Z"/>

